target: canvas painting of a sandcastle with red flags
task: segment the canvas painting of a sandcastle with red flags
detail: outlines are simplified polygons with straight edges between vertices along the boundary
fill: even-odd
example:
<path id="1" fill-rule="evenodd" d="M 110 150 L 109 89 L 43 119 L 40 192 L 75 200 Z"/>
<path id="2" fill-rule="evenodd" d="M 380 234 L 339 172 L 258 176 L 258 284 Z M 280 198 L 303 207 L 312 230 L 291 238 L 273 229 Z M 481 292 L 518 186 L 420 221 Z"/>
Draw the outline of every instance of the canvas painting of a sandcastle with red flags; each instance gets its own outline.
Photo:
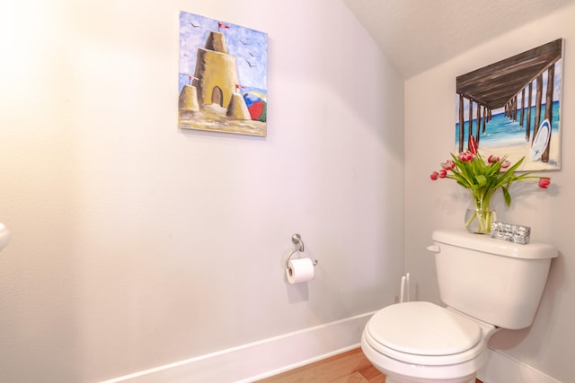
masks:
<path id="1" fill-rule="evenodd" d="M 266 33 L 180 13 L 178 127 L 267 134 Z"/>

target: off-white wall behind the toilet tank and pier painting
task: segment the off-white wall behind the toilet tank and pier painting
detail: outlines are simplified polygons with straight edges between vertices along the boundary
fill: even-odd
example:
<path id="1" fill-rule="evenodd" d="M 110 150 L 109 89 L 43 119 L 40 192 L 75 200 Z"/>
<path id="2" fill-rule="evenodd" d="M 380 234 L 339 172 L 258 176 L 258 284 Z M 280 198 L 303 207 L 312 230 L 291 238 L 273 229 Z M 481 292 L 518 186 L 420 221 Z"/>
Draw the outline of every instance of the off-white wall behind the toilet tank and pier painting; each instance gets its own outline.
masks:
<path id="1" fill-rule="evenodd" d="M 429 69 L 405 84 L 405 227 L 406 270 L 418 283 L 419 298 L 438 301 L 433 258 L 426 251 L 431 231 L 438 227 L 463 227 L 466 192 L 454 182 L 429 180 L 429 173 L 455 149 L 454 123 L 456 76 L 489 65 L 539 45 L 564 38 L 562 99 L 562 170 L 549 172 L 553 186 L 520 193 L 511 187 L 513 203 L 508 208 L 502 196 L 496 198 L 498 218 L 531 226 L 531 239 L 553 243 L 560 257 L 553 261 L 549 282 L 534 325 L 517 332 L 500 332 L 491 346 L 517 361 L 560 381 L 573 380 L 572 346 L 575 344 L 575 238 L 571 235 L 575 200 L 571 187 L 575 167 L 573 135 L 575 102 L 575 5 L 527 24 L 460 57 Z M 456 31 L 454 31 L 456 33 Z M 514 191 L 515 190 L 515 191 Z M 485 275 L 489 283 L 489 275 Z"/>

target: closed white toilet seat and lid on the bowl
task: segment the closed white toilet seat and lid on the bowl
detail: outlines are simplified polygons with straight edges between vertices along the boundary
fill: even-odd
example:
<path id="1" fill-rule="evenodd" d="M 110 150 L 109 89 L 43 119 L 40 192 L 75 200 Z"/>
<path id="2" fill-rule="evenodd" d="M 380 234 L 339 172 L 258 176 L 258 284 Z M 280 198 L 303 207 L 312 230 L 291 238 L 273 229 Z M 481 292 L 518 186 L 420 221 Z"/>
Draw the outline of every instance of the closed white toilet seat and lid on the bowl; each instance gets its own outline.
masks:
<path id="1" fill-rule="evenodd" d="M 470 361 L 484 349 L 478 324 L 425 301 L 379 310 L 367 322 L 364 337 L 377 353 L 429 366 Z"/>

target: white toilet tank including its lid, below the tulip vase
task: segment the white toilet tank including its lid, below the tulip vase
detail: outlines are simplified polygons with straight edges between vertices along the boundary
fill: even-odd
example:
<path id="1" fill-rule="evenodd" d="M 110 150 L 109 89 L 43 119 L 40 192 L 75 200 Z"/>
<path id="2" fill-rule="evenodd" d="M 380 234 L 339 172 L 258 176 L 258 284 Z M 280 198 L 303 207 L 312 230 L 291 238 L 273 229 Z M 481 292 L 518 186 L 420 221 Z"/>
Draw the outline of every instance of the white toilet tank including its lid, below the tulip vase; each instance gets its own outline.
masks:
<path id="1" fill-rule="evenodd" d="M 520 245 L 467 231 L 438 230 L 431 237 L 439 295 L 447 306 L 494 326 L 531 326 L 557 249 Z"/>

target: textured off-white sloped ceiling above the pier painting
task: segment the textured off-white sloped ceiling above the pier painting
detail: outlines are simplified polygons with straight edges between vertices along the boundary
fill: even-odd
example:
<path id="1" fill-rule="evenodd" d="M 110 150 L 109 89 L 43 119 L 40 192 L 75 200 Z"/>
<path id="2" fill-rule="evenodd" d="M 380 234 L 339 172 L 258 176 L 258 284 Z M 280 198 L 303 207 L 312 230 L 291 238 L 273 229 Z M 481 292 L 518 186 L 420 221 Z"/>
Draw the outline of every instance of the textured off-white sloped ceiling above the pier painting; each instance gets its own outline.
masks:
<path id="1" fill-rule="evenodd" d="M 575 0 L 344 2 L 407 79 Z"/>

